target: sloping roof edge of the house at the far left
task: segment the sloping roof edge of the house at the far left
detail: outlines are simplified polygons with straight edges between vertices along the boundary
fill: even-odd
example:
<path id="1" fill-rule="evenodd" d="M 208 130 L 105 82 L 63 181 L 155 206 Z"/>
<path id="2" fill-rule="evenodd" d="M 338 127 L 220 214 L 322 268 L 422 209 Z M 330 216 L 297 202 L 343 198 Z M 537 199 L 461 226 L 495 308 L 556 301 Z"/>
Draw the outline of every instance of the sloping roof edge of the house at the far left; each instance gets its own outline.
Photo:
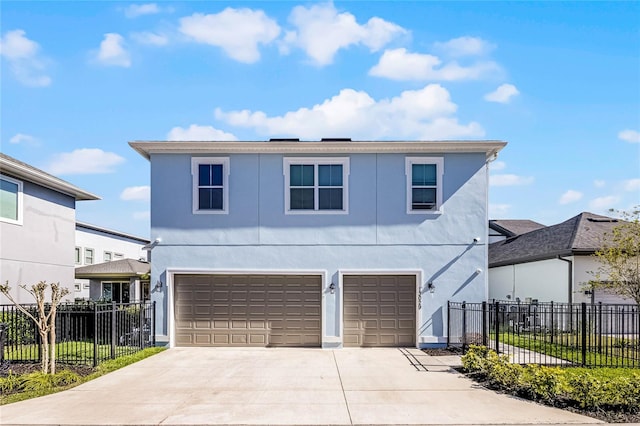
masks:
<path id="1" fill-rule="evenodd" d="M 87 192 L 60 178 L 50 175 L 27 163 L 16 160 L 0 152 L 0 172 L 2 174 L 33 182 L 45 188 L 74 197 L 77 201 L 99 200 L 95 194 Z"/>

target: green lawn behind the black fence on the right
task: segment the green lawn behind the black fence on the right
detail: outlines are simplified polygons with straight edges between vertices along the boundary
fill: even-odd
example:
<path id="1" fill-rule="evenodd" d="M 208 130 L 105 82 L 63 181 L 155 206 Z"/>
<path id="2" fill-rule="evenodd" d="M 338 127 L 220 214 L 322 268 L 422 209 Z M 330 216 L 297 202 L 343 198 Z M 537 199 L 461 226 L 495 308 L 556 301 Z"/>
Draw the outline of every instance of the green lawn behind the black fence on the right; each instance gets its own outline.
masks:
<path id="1" fill-rule="evenodd" d="M 640 349 L 638 342 L 630 339 L 622 341 L 619 338 L 603 337 L 602 350 L 594 351 L 594 336 L 588 336 L 591 340 L 587 340 L 592 347 L 587 350 L 584 364 L 586 366 L 614 366 L 614 367 L 638 367 L 640 366 Z M 495 339 L 492 334 L 491 339 Z M 576 335 L 556 335 L 555 341 L 552 343 L 548 334 L 533 333 L 500 333 L 499 339 L 501 343 L 560 358 L 576 365 L 582 365 L 582 350 L 579 345 L 578 336 Z M 590 343 L 589 343 L 590 342 Z M 634 364 L 635 362 L 635 364 Z"/>

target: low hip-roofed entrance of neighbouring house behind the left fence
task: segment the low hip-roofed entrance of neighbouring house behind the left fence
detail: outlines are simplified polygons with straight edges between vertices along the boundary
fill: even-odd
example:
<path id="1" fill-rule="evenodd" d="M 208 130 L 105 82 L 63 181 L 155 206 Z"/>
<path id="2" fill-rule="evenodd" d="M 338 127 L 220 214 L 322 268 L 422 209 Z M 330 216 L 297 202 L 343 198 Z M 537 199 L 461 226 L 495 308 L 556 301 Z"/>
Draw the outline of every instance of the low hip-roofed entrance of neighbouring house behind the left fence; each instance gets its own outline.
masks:
<path id="1" fill-rule="evenodd" d="M 89 283 L 91 300 L 131 303 L 150 300 L 150 266 L 135 259 L 113 260 L 76 268 L 76 282 Z"/>

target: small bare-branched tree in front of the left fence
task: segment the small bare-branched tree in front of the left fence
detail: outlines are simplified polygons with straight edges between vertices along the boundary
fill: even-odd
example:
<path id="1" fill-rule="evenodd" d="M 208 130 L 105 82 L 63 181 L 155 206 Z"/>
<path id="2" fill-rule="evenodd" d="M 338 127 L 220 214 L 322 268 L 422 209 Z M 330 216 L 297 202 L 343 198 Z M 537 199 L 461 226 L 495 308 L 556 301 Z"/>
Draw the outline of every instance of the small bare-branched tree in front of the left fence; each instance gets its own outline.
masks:
<path id="1" fill-rule="evenodd" d="M 56 373 L 56 310 L 58 304 L 64 296 L 69 294 L 69 289 L 61 287 L 60 283 L 47 284 L 46 281 L 40 281 L 38 284 L 32 285 L 31 288 L 27 288 L 26 285 L 20 285 L 19 287 L 28 291 L 36 300 L 38 307 L 38 316 L 34 316 L 31 312 L 25 309 L 24 306 L 15 301 L 11 293 L 11 287 L 9 282 L 0 284 L 0 293 L 7 296 L 7 298 L 18 308 L 22 313 L 27 315 L 38 326 L 38 333 L 40 333 L 40 345 L 42 350 L 42 372 L 47 374 Z M 45 295 L 47 288 L 51 287 L 51 302 L 47 305 L 45 301 Z M 47 307 L 49 309 L 47 309 Z"/>

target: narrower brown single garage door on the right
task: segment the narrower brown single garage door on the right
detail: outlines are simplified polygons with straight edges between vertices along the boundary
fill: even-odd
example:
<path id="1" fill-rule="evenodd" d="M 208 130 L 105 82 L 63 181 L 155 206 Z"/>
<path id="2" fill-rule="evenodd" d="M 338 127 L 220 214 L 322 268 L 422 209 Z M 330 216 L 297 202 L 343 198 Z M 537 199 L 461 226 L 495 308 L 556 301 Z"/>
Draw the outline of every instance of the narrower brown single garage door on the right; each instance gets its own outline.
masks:
<path id="1" fill-rule="evenodd" d="M 345 275 L 344 346 L 415 346 L 415 275 Z"/>

